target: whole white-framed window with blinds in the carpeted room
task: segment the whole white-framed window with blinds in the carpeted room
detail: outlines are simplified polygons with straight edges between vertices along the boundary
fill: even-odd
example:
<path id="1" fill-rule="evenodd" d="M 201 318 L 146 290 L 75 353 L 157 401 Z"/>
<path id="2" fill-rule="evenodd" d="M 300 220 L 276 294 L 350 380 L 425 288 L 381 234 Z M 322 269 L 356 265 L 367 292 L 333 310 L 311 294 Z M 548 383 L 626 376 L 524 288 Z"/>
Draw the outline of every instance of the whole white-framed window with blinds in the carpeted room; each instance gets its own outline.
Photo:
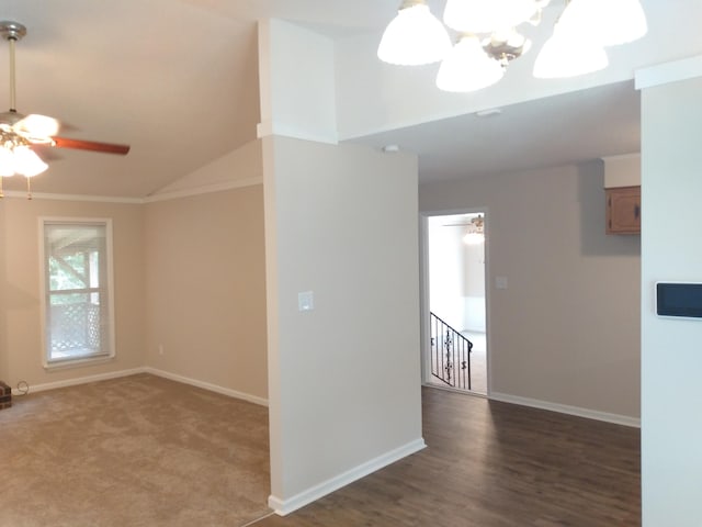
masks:
<path id="1" fill-rule="evenodd" d="M 41 222 L 45 366 L 114 357 L 111 222 Z"/>

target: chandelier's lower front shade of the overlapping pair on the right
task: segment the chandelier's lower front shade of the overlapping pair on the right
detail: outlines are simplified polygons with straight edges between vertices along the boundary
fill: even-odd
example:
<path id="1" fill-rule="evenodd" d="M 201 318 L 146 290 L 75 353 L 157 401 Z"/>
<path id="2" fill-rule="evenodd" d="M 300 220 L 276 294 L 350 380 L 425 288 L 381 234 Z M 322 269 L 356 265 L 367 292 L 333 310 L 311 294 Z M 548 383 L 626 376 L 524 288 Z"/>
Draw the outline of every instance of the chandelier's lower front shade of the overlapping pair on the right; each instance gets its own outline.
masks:
<path id="1" fill-rule="evenodd" d="M 555 79 L 576 77 L 607 68 L 607 53 L 598 42 L 580 32 L 564 31 L 558 21 L 534 63 L 534 77 Z"/>

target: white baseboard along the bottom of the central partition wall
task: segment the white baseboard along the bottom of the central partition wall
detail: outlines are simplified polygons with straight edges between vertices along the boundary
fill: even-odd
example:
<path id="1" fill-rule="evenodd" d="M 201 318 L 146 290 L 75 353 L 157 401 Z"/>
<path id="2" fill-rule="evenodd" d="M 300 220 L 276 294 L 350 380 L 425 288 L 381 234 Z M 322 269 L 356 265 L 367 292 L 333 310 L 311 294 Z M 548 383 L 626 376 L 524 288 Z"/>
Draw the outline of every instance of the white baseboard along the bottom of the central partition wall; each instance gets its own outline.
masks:
<path id="1" fill-rule="evenodd" d="M 375 472 L 376 470 L 383 469 L 395 461 L 399 461 L 407 456 L 418 452 L 426 447 L 427 444 L 422 438 L 416 439 L 286 500 L 271 495 L 268 498 L 268 506 L 275 511 L 275 514 L 279 516 L 285 516 L 314 501 L 319 500 L 320 497 L 326 496 L 327 494 L 332 493 L 333 491 L 341 489 L 342 486 L 348 485 L 349 483 Z"/>

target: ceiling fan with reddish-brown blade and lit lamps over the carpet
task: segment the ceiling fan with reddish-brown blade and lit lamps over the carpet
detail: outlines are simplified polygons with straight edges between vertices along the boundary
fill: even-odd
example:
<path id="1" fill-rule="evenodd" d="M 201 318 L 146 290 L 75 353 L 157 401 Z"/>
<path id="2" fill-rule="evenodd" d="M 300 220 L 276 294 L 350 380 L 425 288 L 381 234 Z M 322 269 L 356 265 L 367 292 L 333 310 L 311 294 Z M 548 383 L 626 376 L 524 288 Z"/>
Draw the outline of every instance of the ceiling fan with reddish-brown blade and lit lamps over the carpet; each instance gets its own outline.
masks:
<path id="1" fill-rule="evenodd" d="M 19 40 L 26 35 L 26 27 L 18 22 L 0 21 L 0 35 L 10 45 L 10 110 L 0 112 L 0 198 L 2 198 L 2 178 L 14 175 L 26 178 L 27 195 L 30 199 L 32 198 L 30 178 L 48 168 L 48 165 L 34 152 L 35 148 L 73 148 L 122 156 L 129 152 L 127 145 L 58 137 L 56 134 L 61 125 L 56 119 L 36 113 L 29 115 L 19 113 L 16 110 L 14 46 Z"/>

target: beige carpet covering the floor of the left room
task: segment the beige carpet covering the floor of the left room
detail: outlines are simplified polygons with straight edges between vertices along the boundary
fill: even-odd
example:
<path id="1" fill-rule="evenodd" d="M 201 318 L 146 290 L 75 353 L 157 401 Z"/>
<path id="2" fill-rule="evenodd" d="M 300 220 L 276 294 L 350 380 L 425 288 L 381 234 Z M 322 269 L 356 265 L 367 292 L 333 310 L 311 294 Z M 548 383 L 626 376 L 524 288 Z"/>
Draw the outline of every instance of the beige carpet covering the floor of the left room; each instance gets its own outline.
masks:
<path id="1" fill-rule="evenodd" d="M 270 509 L 268 411 L 139 374 L 0 412 L 0 526 L 241 526 Z"/>

